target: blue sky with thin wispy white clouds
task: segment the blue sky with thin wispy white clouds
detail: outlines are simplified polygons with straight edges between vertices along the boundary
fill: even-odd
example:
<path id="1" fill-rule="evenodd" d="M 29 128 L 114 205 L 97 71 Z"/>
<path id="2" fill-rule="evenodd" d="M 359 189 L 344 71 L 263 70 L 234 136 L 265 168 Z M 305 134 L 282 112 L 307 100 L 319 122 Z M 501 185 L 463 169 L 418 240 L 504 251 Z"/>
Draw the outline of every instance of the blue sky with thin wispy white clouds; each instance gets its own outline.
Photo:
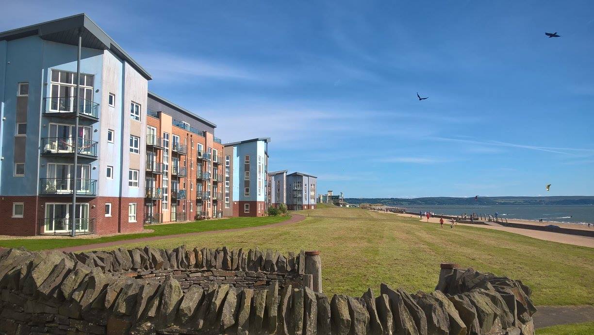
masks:
<path id="1" fill-rule="evenodd" d="M 151 91 L 318 192 L 594 195 L 592 1 L 2 2 L 1 31 L 86 12 Z"/>

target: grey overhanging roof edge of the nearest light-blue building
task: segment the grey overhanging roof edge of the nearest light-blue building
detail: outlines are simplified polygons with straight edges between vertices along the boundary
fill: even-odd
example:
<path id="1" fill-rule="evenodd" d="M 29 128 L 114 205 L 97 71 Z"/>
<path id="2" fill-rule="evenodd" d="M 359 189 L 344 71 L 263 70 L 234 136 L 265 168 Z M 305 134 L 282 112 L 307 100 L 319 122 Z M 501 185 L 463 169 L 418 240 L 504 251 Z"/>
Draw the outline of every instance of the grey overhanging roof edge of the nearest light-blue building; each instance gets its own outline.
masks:
<path id="1" fill-rule="evenodd" d="M 81 17 L 83 20 L 83 23 L 81 24 L 80 27 L 84 27 L 91 34 L 95 35 L 95 37 L 97 37 L 97 39 L 99 39 L 99 40 L 103 40 L 103 39 L 101 38 L 101 36 L 96 36 L 94 31 L 99 30 L 101 33 L 105 34 L 105 37 L 107 37 L 107 39 L 108 39 L 107 42 L 109 42 L 109 50 L 111 50 L 112 52 L 118 53 L 118 56 L 124 58 L 125 61 L 129 62 L 129 64 L 134 69 L 136 69 L 138 72 L 140 72 L 140 74 L 143 75 L 143 77 L 146 78 L 147 80 L 153 79 L 153 77 L 151 77 L 150 73 L 148 71 L 146 71 L 146 69 L 144 69 L 140 64 L 138 64 L 136 61 L 134 61 L 134 59 L 130 55 L 128 55 L 128 53 L 125 52 L 125 50 L 122 49 L 122 47 L 119 46 L 118 43 L 116 43 L 115 40 L 113 40 L 112 37 L 110 37 L 105 32 L 105 30 L 101 29 L 101 27 L 99 27 L 99 25 L 97 25 L 93 20 L 91 20 L 91 18 L 84 12 L 80 13 L 80 14 L 70 15 L 68 17 L 56 18 L 55 20 L 45 21 L 42 23 L 31 24 L 30 26 L 25 26 L 25 27 L 15 28 L 15 29 L 7 30 L 7 31 L 2 31 L 2 32 L 0 32 L 0 40 L 11 39 L 10 37 L 19 39 L 19 38 L 28 37 L 28 36 L 34 36 L 36 34 L 39 35 L 39 30 L 42 26 L 57 23 L 59 21 L 70 20 L 72 18 L 77 18 L 77 17 Z M 72 26 L 71 28 L 72 29 L 78 28 L 78 26 Z"/>

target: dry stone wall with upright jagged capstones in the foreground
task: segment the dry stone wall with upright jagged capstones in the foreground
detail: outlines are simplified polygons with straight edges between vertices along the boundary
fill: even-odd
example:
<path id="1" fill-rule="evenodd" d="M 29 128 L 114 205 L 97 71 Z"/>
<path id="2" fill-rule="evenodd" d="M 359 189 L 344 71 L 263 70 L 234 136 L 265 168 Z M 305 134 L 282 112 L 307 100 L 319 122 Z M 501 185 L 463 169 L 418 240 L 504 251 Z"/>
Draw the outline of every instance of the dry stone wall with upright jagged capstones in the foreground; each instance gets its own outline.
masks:
<path id="1" fill-rule="evenodd" d="M 320 292 L 320 271 L 315 252 L 285 257 L 185 246 L 80 254 L 7 249 L 0 252 L 0 332 L 534 333 L 536 309 L 519 280 L 442 264 L 431 293 L 382 284 L 378 296 L 368 289 L 361 297 L 330 297 Z M 194 278 L 201 279 L 188 280 Z"/>

